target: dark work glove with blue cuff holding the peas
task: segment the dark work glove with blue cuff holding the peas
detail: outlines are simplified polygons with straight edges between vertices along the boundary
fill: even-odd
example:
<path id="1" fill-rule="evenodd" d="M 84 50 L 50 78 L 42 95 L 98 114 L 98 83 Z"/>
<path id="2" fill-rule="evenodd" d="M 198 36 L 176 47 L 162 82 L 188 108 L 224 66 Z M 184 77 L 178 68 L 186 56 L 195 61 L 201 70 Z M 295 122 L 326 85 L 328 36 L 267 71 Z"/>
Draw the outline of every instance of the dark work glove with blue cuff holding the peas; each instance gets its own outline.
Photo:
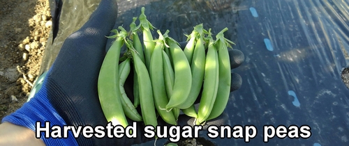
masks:
<path id="1" fill-rule="evenodd" d="M 105 127 L 107 120 L 98 99 L 97 81 L 105 53 L 110 46 L 108 43 L 111 42 L 105 36 L 110 35 L 116 19 L 117 2 L 102 0 L 89 21 L 66 39 L 36 96 L 15 113 L 4 117 L 3 122 L 28 127 L 33 131 L 36 131 L 36 122 L 44 127 L 45 121 L 50 121 L 50 127 Z M 232 68 L 235 68 L 243 62 L 244 55 L 235 49 L 230 51 L 230 59 Z M 241 83 L 239 74 L 232 74 L 232 91 L 237 90 Z M 179 123 L 188 121 L 188 118 L 181 119 Z M 224 121 L 220 119 L 218 117 L 212 123 Z M 138 136 L 133 139 L 126 136 L 84 138 L 81 134 L 74 138 L 71 131 L 68 132 L 68 138 L 45 138 L 44 132 L 41 133 L 41 138 L 46 145 L 133 145 L 149 140 L 142 134 L 143 126 L 142 122 L 138 123 Z"/>

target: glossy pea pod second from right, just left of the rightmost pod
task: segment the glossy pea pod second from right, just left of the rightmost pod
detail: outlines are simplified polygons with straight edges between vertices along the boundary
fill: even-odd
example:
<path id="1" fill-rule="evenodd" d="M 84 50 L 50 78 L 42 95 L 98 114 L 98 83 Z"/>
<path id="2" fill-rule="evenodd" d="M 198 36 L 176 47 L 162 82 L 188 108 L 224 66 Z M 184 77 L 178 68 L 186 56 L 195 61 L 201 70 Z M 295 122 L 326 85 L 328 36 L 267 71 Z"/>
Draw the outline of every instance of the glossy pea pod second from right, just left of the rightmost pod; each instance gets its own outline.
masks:
<path id="1" fill-rule="evenodd" d="M 207 120 L 216 100 L 218 90 L 218 53 L 214 42 L 209 41 L 206 61 L 205 61 L 205 77 L 202 90 L 202 97 L 198 108 L 198 118 L 196 124 L 201 124 Z"/>

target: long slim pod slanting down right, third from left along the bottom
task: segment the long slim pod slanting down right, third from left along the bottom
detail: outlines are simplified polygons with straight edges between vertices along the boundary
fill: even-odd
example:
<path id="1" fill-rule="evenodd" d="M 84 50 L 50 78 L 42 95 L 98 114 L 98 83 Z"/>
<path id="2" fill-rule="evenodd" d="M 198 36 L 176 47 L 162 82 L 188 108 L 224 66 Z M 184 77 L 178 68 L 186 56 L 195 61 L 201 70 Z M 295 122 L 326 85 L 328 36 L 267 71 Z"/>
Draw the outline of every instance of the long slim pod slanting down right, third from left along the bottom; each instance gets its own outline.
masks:
<path id="1" fill-rule="evenodd" d="M 135 72 L 138 75 L 138 87 L 140 88 L 140 108 L 145 125 L 156 127 L 156 111 L 154 106 L 153 89 L 147 67 L 144 65 L 140 57 L 131 50 Z"/>

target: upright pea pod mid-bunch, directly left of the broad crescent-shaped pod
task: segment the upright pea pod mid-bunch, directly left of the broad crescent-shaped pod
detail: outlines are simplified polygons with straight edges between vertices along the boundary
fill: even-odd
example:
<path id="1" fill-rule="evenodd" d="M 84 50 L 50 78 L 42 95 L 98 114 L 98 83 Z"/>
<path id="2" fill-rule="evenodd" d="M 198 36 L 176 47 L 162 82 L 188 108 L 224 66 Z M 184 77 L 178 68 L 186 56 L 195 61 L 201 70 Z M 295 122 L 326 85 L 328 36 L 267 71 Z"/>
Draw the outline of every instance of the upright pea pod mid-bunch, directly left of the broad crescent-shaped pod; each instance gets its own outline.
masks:
<path id="1" fill-rule="evenodd" d="M 168 104 L 168 96 L 165 89 L 162 51 L 163 43 L 156 42 L 153 54 L 151 55 L 149 70 L 151 85 L 153 88 L 155 108 L 165 122 L 167 122 L 168 124 L 176 125 L 177 122 L 172 111 L 168 112 L 165 109 L 166 104 Z"/>

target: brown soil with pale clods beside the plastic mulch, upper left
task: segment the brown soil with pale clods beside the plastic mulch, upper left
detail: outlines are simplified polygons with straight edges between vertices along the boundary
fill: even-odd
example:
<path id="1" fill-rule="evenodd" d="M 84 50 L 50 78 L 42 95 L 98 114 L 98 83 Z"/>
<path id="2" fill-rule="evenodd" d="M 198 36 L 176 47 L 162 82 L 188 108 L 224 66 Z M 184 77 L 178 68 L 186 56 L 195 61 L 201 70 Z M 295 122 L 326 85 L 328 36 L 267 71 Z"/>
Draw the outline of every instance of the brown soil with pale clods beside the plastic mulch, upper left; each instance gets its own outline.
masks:
<path id="1" fill-rule="evenodd" d="M 52 21 L 48 0 L 0 1 L 0 119 L 27 102 Z"/>

